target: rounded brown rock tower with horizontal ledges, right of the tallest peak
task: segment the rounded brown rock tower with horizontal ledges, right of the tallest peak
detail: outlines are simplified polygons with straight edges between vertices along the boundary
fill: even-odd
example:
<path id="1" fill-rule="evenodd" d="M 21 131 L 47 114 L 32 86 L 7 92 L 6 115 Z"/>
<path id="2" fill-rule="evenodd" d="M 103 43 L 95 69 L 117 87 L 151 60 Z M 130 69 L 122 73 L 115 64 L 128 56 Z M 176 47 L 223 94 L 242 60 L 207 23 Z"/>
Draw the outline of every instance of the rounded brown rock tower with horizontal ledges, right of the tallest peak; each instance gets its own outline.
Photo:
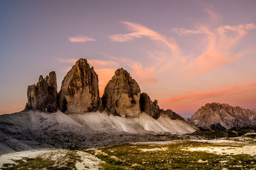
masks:
<path id="1" fill-rule="evenodd" d="M 117 69 L 104 90 L 102 102 L 110 114 L 136 117 L 141 113 L 140 87 L 126 70 Z"/>

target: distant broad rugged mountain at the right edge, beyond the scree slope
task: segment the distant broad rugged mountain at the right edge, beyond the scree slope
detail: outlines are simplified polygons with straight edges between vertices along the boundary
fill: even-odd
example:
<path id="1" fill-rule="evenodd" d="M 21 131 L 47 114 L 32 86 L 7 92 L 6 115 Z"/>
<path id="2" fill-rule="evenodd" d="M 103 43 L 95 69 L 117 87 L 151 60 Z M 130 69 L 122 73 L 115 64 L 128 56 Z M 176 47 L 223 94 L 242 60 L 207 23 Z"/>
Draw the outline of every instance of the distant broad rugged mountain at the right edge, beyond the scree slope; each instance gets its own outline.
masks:
<path id="1" fill-rule="evenodd" d="M 228 104 L 207 103 L 191 117 L 191 122 L 199 127 L 211 129 L 231 129 L 256 125 L 256 113 Z"/>

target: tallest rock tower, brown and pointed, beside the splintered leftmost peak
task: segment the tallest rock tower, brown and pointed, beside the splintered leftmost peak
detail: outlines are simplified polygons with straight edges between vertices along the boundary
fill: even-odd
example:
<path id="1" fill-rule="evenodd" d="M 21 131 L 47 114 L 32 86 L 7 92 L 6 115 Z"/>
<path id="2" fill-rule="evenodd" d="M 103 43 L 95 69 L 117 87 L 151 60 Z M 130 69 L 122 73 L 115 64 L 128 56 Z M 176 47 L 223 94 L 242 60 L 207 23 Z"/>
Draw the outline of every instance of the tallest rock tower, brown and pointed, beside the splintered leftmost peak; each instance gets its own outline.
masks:
<path id="1" fill-rule="evenodd" d="M 86 59 L 77 60 L 61 83 L 60 110 L 63 113 L 97 111 L 99 103 L 98 75 Z"/>

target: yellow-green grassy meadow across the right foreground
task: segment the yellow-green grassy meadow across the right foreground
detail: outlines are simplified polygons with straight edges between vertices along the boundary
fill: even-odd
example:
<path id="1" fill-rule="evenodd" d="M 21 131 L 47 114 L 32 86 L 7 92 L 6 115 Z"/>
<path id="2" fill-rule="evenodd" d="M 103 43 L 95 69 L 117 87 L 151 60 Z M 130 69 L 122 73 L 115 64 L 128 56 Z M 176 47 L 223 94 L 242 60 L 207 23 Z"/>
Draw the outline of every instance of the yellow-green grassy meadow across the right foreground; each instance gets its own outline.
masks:
<path id="1" fill-rule="evenodd" d="M 96 154 L 96 157 L 106 162 L 102 165 L 104 169 L 241 169 L 241 167 L 250 169 L 256 167 L 255 158 L 250 155 L 216 155 L 182 150 L 183 148 L 202 146 L 232 145 L 195 141 L 168 145 L 125 144 L 99 148 L 104 155 Z M 149 151 L 143 152 L 144 149 Z M 95 150 L 86 152 L 96 153 Z M 112 159 L 112 157 L 116 157 L 118 160 Z"/>

